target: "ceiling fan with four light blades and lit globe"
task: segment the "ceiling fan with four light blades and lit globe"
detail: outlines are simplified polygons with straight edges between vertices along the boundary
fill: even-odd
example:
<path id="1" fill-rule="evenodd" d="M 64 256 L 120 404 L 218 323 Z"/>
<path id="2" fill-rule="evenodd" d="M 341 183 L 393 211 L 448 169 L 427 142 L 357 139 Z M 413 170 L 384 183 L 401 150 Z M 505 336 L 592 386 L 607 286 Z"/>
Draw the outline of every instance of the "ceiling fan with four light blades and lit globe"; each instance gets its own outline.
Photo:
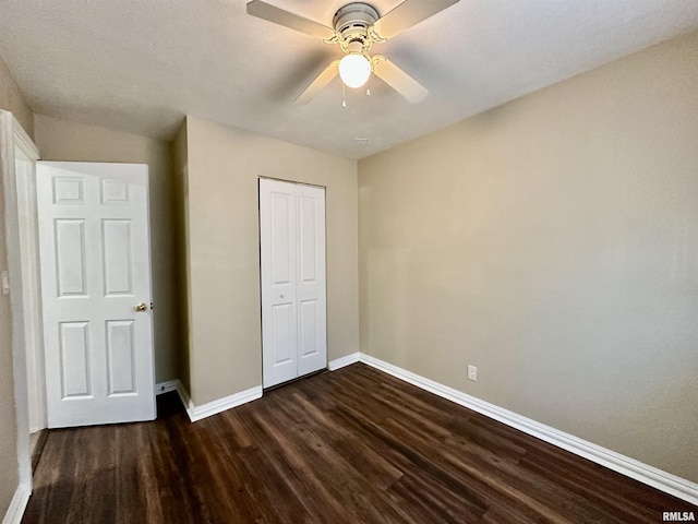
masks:
<path id="1" fill-rule="evenodd" d="M 387 58 L 382 55 L 371 56 L 369 51 L 374 44 L 393 38 L 458 1 L 405 0 L 384 16 L 378 16 L 378 12 L 368 3 L 351 2 L 335 13 L 334 28 L 263 0 L 249 2 L 248 14 L 320 38 L 327 44 L 338 44 L 344 51 L 345 56 L 340 60 L 332 61 L 296 98 L 296 104 L 309 103 L 337 74 L 346 86 L 361 87 L 371 73 L 416 104 L 426 96 L 428 91 Z"/>

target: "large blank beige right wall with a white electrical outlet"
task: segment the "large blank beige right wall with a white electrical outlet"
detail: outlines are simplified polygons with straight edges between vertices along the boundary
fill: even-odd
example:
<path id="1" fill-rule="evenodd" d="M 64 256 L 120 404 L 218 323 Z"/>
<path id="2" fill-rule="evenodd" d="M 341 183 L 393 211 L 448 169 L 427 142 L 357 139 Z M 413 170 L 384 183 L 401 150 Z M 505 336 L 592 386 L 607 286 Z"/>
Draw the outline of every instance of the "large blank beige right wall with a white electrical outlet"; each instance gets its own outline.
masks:
<path id="1" fill-rule="evenodd" d="M 698 481 L 698 34 L 360 162 L 359 215 L 362 352 Z"/>

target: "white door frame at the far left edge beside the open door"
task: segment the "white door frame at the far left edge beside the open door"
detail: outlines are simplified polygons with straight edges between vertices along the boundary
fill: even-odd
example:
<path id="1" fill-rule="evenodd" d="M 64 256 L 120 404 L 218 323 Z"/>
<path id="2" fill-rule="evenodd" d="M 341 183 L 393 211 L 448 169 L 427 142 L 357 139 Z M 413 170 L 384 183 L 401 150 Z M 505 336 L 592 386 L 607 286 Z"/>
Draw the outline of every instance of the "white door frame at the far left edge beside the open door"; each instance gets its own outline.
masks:
<path id="1" fill-rule="evenodd" d="M 25 307 L 22 289 L 23 261 L 21 258 L 20 204 L 17 203 L 17 174 L 15 159 L 36 162 L 39 152 L 22 126 L 9 111 L 0 111 L 0 164 L 4 189 L 4 227 L 10 276 L 10 305 L 12 311 L 12 371 L 14 377 L 14 404 L 17 425 L 17 464 L 19 487 L 13 499 L 15 510 L 24 510 L 32 492 L 32 456 L 29 451 L 29 413 L 27 397 L 27 370 L 25 350 L 25 315 L 32 314 L 33 308 Z M 26 202 L 25 202 L 26 203 Z M 37 251 L 38 252 L 38 246 Z M 38 261 L 34 261 L 35 267 Z M 38 290 L 38 289 L 37 289 Z M 28 319 L 33 322 L 40 319 Z M 34 322 L 36 325 L 36 322 Z M 39 338 L 41 340 L 41 338 Z M 20 498 L 19 500 L 16 498 Z M 13 509 L 11 507 L 11 509 Z"/>

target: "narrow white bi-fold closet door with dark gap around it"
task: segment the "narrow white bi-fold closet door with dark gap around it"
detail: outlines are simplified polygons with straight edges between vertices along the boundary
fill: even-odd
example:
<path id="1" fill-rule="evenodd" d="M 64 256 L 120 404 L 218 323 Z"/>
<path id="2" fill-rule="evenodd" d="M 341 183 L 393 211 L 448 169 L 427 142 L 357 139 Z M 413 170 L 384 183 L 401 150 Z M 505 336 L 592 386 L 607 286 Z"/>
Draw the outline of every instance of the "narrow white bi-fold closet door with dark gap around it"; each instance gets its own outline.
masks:
<path id="1" fill-rule="evenodd" d="M 325 190 L 260 179 L 264 388 L 327 366 Z"/>

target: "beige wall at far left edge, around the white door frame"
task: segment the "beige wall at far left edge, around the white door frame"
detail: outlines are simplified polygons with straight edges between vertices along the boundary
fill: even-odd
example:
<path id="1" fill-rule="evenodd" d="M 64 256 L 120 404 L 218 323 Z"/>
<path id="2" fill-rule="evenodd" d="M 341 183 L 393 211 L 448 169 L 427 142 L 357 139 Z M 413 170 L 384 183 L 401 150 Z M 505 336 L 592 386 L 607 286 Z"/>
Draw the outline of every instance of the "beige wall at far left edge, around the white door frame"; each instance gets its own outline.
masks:
<path id="1" fill-rule="evenodd" d="M 0 109 L 12 111 L 24 130 L 34 132 L 32 109 L 22 97 L 8 67 L 0 58 Z M 0 177 L 0 270 L 8 269 L 4 235 L 4 188 Z M 10 296 L 0 295 L 0 516 L 10 507 L 17 488 L 16 415 L 14 412 L 14 380 L 12 377 L 12 313 Z"/>

